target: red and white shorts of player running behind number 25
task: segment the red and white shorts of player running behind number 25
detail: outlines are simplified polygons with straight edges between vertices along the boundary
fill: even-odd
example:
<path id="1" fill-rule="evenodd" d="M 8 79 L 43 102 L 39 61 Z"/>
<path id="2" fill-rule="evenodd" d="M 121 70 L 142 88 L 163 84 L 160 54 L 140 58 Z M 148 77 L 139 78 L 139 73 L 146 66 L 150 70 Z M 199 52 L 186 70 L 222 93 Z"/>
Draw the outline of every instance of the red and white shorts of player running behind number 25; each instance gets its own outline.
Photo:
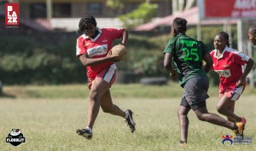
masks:
<path id="1" fill-rule="evenodd" d="M 236 101 L 239 99 L 244 89 L 245 89 L 245 85 L 240 87 L 234 87 L 234 88 L 232 87 L 222 88 L 222 89 L 219 89 L 219 97 L 227 96 L 228 98 L 230 98 L 230 100 Z"/>

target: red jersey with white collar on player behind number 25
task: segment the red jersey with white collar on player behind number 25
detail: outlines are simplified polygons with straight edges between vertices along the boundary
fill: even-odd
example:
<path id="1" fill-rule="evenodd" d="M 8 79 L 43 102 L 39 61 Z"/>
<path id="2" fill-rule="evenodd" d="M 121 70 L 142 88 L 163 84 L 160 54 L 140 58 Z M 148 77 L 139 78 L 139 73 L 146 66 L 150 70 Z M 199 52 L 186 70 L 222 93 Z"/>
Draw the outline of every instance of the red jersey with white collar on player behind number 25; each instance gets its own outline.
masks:
<path id="1" fill-rule="evenodd" d="M 213 61 L 212 69 L 219 74 L 219 87 L 233 87 L 241 78 L 242 68 L 250 59 L 247 55 L 236 49 L 226 47 L 222 55 L 218 58 L 217 49 L 212 50 L 211 56 Z"/>

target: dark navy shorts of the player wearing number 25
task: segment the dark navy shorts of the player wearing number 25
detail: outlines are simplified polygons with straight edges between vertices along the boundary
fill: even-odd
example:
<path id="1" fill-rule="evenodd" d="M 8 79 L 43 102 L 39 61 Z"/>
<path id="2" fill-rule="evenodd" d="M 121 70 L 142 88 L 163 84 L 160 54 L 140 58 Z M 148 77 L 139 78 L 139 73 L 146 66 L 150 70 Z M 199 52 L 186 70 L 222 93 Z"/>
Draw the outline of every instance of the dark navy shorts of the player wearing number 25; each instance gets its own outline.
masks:
<path id="1" fill-rule="evenodd" d="M 184 85 L 184 93 L 180 103 L 183 107 L 191 107 L 198 109 L 206 107 L 206 100 L 209 98 L 207 91 L 209 88 L 209 80 L 205 76 L 197 76 L 190 78 Z"/>

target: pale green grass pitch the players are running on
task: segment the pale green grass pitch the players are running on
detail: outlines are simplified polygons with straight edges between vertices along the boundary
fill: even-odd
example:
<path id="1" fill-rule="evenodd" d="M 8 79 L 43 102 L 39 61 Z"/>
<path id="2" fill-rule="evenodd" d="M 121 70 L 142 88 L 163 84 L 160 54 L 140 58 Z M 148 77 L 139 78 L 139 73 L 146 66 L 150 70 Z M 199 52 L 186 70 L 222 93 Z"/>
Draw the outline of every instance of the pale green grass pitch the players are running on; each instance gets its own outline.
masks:
<path id="1" fill-rule="evenodd" d="M 236 104 L 236 113 L 247 118 L 245 135 L 252 137 L 252 144 L 223 145 L 221 136 L 233 135 L 232 131 L 201 122 L 191 112 L 189 113 L 189 144 L 181 148 L 178 146 L 177 107 L 182 89 L 170 87 L 170 85 L 169 87 L 144 86 L 143 90 L 141 89 L 142 93 L 147 92 L 144 97 L 132 90 L 131 96 L 127 96 L 126 92 L 123 92 L 123 95 L 116 94 L 122 91 L 121 88 L 129 91 L 132 87 L 141 89 L 138 84 L 133 86 L 117 84 L 113 87 L 113 102 L 122 109 L 132 109 L 135 113 L 137 131 L 131 134 L 124 119 L 102 113 L 101 110 L 96 120 L 92 140 L 86 140 L 75 133 L 77 128 L 84 127 L 86 121 L 87 92 L 82 93 L 86 90 L 84 86 L 26 86 L 16 94 L 16 97 L 0 98 L 0 138 L 2 140 L 0 150 L 256 150 L 255 95 L 252 90 L 245 91 Z M 17 88 L 21 87 L 9 86 L 4 89 L 4 92 L 8 94 L 7 96 L 15 96 L 15 93 L 10 92 L 12 90 L 17 92 L 19 90 Z M 160 90 L 166 88 L 167 90 L 161 94 Z M 77 91 L 73 91 L 76 89 Z M 40 92 L 37 96 L 30 96 L 27 95 L 29 90 Z M 150 94 L 151 90 L 158 95 Z M 207 101 L 208 110 L 212 113 L 217 113 L 215 106 L 218 102 L 218 91 L 215 90 L 218 89 L 210 89 L 212 97 Z M 166 95 L 167 91 L 173 95 Z M 67 96 L 68 94 L 71 96 Z M 150 96 L 153 98 L 149 98 Z M 5 142 L 5 137 L 12 128 L 21 129 L 26 137 L 25 143 L 13 147 Z"/>

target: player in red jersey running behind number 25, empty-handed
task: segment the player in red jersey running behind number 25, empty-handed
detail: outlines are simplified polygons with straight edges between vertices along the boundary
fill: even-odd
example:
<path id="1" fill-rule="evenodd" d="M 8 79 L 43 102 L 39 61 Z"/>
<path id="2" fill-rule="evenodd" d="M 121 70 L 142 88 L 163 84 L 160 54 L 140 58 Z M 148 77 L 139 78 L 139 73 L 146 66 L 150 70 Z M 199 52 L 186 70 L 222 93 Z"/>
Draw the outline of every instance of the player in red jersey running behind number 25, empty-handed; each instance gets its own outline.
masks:
<path id="1" fill-rule="evenodd" d="M 246 119 L 234 113 L 235 103 L 246 87 L 247 74 L 253 69 L 254 61 L 247 55 L 230 48 L 226 32 L 219 32 L 214 38 L 211 52 L 212 69 L 219 74 L 219 97 L 217 110 L 232 122 L 246 123 Z M 247 64 L 244 72 L 242 66 Z"/>

